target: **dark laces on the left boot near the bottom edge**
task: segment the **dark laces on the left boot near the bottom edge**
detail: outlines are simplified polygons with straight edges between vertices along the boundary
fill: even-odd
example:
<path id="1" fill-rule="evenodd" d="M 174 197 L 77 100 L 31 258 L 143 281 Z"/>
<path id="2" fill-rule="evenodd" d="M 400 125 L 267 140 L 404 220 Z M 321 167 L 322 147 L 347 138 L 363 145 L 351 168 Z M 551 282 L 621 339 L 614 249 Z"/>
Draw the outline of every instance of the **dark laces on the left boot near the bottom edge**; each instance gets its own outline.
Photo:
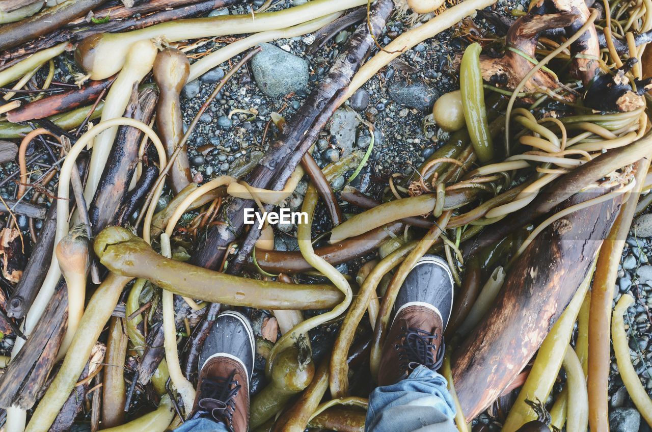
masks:
<path id="1" fill-rule="evenodd" d="M 242 387 L 234 376 L 235 371 L 228 377 L 204 378 L 201 393 L 206 397 L 202 397 L 198 403 L 200 416 L 210 416 L 213 420 L 224 423 L 231 432 L 235 396 Z"/>

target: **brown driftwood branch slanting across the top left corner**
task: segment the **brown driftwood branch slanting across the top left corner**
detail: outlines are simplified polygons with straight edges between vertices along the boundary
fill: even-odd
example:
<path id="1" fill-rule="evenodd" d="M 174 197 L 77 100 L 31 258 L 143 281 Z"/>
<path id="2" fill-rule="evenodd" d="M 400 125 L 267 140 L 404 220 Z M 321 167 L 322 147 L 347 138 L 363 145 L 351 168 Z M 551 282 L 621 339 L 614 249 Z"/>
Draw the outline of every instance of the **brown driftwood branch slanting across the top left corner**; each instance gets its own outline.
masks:
<path id="1" fill-rule="evenodd" d="M 43 12 L 19 22 L 3 25 L 0 27 L 0 51 L 19 46 L 23 42 L 50 33 L 50 31 L 56 30 L 64 23 L 87 14 L 89 10 L 101 5 L 104 1 L 67 1 L 61 5 L 46 8 Z"/>

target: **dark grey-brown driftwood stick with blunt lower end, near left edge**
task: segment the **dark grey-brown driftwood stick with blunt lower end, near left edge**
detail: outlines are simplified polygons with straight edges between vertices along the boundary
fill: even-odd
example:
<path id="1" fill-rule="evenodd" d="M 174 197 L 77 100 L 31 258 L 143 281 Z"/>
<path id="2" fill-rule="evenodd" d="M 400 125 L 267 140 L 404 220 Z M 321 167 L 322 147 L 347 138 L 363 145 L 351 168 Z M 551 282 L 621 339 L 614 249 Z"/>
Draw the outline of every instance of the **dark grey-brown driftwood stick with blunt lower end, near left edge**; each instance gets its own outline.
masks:
<path id="1" fill-rule="evenodd" d="M 42 285 L 50 267 L 56 228 L 57 206 L 52 205 L 40 232 L 38 232 L 37 244 L 29 257 L 23 276 L 7 302 L 8 316 L 22 318 L 36 298 L 38 288 Z"/>

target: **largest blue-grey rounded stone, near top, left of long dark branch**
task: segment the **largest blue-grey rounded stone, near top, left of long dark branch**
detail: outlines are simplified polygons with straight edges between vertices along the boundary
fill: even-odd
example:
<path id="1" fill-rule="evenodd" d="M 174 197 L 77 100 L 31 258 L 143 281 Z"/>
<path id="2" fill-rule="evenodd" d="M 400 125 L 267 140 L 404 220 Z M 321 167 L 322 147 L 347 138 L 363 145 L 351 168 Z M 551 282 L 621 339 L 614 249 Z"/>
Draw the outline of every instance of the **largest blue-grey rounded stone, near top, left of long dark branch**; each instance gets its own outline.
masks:
<path id="1" fill-rule="evenodd" d="M 272 44 L 263 48 L 251 61 L 258 88 L 268 97 L 282 97 L 308 85 L 308 62 Z"/>

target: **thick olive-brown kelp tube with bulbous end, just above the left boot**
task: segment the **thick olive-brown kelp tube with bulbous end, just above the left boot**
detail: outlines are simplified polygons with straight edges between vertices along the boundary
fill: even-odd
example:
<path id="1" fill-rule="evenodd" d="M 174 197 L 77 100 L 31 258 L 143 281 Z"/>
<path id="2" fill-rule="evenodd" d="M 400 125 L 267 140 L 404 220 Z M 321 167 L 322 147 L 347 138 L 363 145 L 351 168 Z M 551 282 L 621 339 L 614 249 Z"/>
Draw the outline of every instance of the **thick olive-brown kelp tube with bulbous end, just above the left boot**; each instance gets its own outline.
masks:
<path id="1" fill-rule="evenodd" d="M 114 273 L 142 277 L 189 298 L 257 309 L 327 309 L 344 298 L 331 285 L 258 281 L 171 260 L 117 226 L 102 230 L 94 247 L 100 262 Z"/>

